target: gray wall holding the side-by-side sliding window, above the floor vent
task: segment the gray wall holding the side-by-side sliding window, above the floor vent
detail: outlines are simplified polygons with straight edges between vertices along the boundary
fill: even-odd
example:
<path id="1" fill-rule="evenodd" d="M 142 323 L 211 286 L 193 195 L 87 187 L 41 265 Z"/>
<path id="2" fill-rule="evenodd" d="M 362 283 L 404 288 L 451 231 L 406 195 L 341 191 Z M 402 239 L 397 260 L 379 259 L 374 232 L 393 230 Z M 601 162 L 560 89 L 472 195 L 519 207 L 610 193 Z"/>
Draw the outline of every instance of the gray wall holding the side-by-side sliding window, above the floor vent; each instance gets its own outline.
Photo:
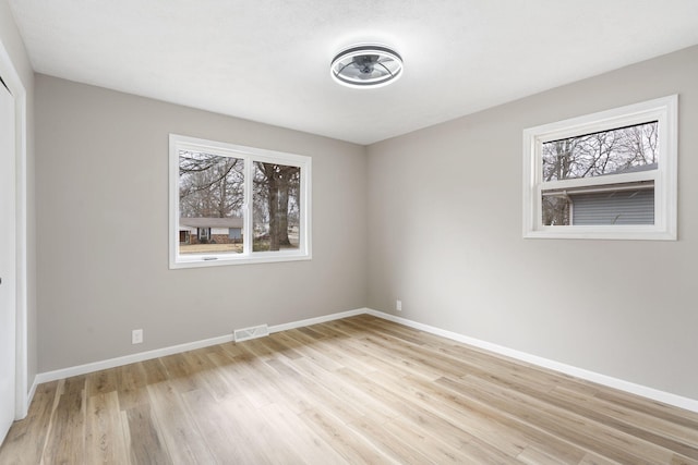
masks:
<path id="1" fill-rule="evenodd" d="M 39 371 L 365 305 L 364 147 L 44 75 L 36 101 Z M 311 156 L 313 259 L 169 270 L 169 133 Z"/>

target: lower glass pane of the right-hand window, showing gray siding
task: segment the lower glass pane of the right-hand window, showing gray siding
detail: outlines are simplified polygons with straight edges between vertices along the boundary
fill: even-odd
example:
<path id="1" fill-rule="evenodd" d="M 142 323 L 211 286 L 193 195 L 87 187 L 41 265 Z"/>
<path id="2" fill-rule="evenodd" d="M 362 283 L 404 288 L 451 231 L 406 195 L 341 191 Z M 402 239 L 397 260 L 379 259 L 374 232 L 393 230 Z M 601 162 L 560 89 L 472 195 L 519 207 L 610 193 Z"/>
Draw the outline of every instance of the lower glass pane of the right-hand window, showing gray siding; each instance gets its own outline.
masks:
<path id="1" fill-rule="evenodd" d="M 544 225 L 654 224 L 654 183 L 543 191 Z"/>

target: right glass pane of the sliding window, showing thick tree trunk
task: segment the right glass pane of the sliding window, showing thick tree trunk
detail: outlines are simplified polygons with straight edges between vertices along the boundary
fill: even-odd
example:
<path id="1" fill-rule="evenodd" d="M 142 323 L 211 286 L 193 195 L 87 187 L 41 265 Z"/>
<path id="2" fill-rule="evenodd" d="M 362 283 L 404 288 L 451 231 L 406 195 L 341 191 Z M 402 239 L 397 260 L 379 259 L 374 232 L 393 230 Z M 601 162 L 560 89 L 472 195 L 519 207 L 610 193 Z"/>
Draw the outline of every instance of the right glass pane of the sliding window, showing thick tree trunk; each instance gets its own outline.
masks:
<path id="1" fill-rule="evenodd" d="M 298 248 L 301 169 L 254 162 L 253 252 Z"/>

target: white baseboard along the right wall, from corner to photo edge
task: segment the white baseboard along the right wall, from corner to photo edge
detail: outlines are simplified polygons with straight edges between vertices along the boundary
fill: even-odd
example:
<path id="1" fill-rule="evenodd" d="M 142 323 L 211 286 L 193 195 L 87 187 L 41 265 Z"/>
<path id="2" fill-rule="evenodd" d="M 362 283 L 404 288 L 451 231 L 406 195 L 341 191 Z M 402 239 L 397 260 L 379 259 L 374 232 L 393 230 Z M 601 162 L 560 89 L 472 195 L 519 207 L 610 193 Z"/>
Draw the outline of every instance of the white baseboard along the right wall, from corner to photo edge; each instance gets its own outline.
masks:
<path id="1" fill-rule="evenodd" d="M 601 375 L 594 371 L 586 370 L 583 368 L 577 368 L 571 365 L 539 357 L 537 355 L 527 354 L 526 352 L 516 351 L 514 348 L 505 347 L 502 345 L 492 344 L 486 341 L 469 338 L 467 335 L 462 335 L 453 331 L 446 331 L 441 328 L 423 325 L 417 321 L 408 320 L 406 318 L 397 317 L 395 315 L 386 314 L 383 311 L 377 311 L 369 308 L 366 309 L 366 314 L 373 315 L 374 317 L 383 318 L 389 321 L 398 322 L 400 325 L 405 325 L 407 327 L 414 328 L 420 331 L 425 331 L 432 334 L 441 335 L 443 338 L 452 339 L 454 341 L 462 342 L 464 344 L 469 344 L 479 348 L 483 348 L 485 351 L 490 351 L 495 354 L 516 358 L 521 362 L 526 362 L 532 365 L 538 365 L 543 368 L 549 368 L 555 371 L 563 372 L 565 375 L 570 375 L 587 381 L 592 381 L 598 384 L 606 386 L 609 388 L 614 388 L 621 391 L 629 392 L 631 394 L 640 395 L 642 397 L 651 399 L 653 401 L 659 401 L 664 404 L 673 405 L 675 407 L 698 413 L 698 400 L 695 400 L 695 399 L 684 397 L 681 395 L 672 394 L 671 392 L 660 391 L 658 389 L 648 388 L 641 384 L 636 384 L 634 382 L 613 378 L 606 375 Z"/>

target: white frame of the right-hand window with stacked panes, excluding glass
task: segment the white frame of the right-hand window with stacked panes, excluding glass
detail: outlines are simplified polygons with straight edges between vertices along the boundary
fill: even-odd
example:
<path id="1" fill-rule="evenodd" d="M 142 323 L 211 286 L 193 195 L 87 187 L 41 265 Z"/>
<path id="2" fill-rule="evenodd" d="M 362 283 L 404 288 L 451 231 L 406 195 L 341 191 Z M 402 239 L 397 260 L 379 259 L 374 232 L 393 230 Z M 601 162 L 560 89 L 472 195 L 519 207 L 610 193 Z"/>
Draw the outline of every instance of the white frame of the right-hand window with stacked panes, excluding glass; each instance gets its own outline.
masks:
<path id="1" fill-rule="evenodd" d="M 672 95 L 524 131 L 524 237 L 676 240 L 678 96 Z M 658 121 L 657 170 L 543 182 L 544 143 Z M 654 224 L 544 225 L 542 192 L 606 184 L 654 182 Z"/>

